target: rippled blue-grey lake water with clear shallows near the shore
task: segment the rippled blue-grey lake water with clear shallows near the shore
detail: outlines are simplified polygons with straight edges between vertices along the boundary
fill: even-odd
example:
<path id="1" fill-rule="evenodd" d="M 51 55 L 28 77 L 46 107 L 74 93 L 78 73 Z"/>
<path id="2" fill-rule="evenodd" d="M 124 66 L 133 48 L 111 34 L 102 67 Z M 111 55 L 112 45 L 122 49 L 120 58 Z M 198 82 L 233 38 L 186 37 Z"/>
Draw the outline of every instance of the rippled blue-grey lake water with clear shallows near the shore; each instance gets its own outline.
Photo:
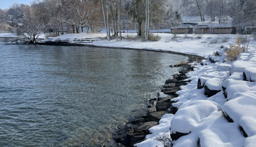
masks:
<path id="1" fill-rule="evenodd" d="M 0 42 L 0 146 L 95 146 L 136 117 L 187 57 Z"/>

